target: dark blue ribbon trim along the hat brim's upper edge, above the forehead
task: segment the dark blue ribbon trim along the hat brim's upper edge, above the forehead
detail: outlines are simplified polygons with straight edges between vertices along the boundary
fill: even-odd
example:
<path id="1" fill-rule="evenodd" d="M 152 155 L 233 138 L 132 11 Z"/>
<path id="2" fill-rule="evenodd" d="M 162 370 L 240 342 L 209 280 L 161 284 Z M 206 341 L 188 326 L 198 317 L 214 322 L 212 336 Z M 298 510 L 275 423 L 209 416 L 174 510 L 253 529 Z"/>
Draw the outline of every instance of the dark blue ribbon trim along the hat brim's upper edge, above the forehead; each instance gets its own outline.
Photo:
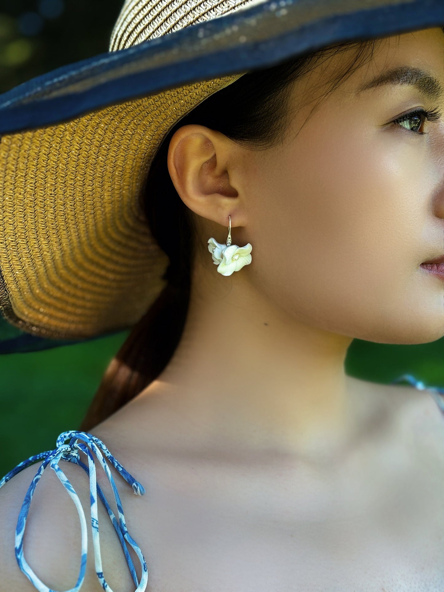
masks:
<path id="1" fill-rule="evenodd" d="M 311 3 L 310 3 L 311 4 Z M 365 4 L 365 3 L 363 3 Z M 0 95 L 0 134 L 63 121 L 166 89 L 271 67 L 334 43 L 444 26 L 443 0 L 388 0 L 338 10 L 268 0 L 206 22 L 101 53 L 37 76 Z M 160 64 L 160 65 L 159 65 Z"/>

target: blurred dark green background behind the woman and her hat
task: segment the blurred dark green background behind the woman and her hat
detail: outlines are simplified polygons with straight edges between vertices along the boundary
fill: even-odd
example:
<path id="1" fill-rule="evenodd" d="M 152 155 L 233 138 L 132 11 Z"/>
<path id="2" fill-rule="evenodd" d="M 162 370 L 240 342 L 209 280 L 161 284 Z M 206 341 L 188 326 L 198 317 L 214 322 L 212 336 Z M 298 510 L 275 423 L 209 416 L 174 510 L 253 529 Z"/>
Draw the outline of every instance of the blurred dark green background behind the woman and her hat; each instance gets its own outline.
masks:
<path id="1" fill-rule="evenodd" d="M 0 92 L 108 51 L 123 0 L 0 0 Z M 128 332 L 33 353 L 0 355 L 0 477 L 56 437 L 78 429 Z M 410 372 L 444 385 L 444 339 L 414 346 L 355 340 L 346 371 L 376 382 Z"/>

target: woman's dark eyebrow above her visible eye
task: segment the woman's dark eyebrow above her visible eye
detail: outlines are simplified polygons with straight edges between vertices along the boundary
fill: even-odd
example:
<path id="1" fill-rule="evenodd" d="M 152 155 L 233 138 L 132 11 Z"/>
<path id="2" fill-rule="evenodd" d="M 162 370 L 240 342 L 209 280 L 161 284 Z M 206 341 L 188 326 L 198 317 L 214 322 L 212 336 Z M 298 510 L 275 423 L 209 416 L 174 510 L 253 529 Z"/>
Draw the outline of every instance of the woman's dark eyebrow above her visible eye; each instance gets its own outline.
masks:
<path id="1" fill-rule="evenodd" d="M 422 95 L 429 99 L 439 99 L 443 95 L 443 89 L 427 70 L 412 66 L 397 66 L 391 70 L 386 70 L 378 76 L 375 76 L 370 82 L 366 82 L 358 89 L 358 92 L 366 91 L 369 88 L 387 84 L 409 84 L 417 88 Z"/>

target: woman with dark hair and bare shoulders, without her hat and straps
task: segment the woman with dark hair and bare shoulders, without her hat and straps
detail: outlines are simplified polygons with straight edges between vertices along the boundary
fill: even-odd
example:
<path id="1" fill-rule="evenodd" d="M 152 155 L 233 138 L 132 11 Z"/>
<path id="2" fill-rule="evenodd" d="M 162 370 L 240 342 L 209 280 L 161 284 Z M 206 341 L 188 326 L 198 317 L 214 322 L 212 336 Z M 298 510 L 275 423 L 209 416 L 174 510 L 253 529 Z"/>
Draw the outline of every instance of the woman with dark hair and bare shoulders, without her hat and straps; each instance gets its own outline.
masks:
<path id="1" fill-rule="evenodd" d="M 442 279 L 424 263 L 444 254 L 443 51 L 430 27 L 244 74 L 157 150 L 141 200 L 169 284 L 81 426 L 146 488 L 121 501 L 147 590 L 442 590 L 438 398 L 343 362 L 355 337 L 444 335 Z M 88 507 L 88 475 L 60 464 Z M 0 491 L 5 590 L 36 588 L 13 549 L 39 465 Z M 134 590 L 101 504 L 98 520 L 102 577 Z M 76 523 L 45 471 L 25 554 L 53 590 L 78 576 Z"/>

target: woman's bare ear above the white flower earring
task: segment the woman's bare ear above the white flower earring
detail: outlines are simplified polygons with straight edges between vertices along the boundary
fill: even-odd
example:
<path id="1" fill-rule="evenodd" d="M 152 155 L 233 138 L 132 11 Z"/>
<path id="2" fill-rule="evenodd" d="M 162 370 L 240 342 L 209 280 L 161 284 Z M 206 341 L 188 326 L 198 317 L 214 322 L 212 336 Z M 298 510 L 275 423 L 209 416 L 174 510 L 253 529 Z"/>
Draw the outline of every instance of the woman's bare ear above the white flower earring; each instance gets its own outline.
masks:
<path id="1" fill-rule="evenodd" d="M 246 226 L 239 162 L 242 148 L 219 131 L 199 125 L 179 128 L 168 149 L 176 191 L 195 214 L 222 226 Z"/>

